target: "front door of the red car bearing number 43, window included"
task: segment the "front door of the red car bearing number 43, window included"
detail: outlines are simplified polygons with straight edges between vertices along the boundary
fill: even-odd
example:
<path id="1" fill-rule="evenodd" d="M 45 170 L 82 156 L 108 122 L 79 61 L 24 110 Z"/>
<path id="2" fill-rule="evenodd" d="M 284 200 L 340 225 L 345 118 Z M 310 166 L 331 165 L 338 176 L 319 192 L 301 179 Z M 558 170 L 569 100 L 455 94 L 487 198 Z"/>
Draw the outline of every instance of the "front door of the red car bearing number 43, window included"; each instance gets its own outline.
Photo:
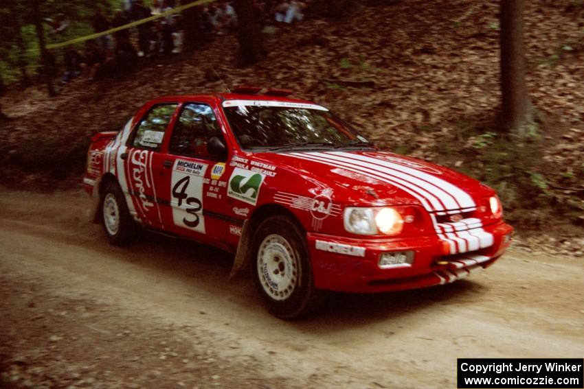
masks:
<path id="1" fill-rule="evenodd" d="M 227 153 L 210 154 L 207 144 L 213 137 L 225 145 L 212 106 L 184 103 L 164 161 L 168 176 L 164 196 L 169 209 L 163 212 L 163 222 L 179 235 L 221 245 L 227 228 L 221 217 L 225 213 Z"/>

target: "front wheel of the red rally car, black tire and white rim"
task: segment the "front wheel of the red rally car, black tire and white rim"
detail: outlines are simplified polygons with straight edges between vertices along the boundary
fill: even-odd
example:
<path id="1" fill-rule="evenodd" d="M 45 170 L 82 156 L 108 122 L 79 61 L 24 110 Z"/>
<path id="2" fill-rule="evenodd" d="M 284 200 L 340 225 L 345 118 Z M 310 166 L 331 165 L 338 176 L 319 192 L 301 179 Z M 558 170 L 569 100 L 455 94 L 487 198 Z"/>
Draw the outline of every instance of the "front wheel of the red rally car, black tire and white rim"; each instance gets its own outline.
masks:
<path id="1" fill-rule="evenodd" d="M 263 220 L 252 239 L 254 282 L 274 316 L 306 316 L 324 304 L 326 292 L 314 287 L 313 272 L 302 229 L 291 218 Z"/>

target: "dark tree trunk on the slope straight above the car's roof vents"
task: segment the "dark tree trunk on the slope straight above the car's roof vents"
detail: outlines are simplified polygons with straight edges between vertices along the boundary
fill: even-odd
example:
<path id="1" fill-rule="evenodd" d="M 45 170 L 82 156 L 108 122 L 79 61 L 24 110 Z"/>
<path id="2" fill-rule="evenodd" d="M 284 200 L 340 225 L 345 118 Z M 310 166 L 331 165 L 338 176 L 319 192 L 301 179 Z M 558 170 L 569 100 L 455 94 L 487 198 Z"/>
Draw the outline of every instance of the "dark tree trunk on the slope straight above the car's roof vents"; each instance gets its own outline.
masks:
<path id="1" fill-rule="evenodd" d="M 245 67 L 262 59 L 265 51 L 254 1 L 235 0 L 234 7 L 238 20 L 238 65 Z"/>

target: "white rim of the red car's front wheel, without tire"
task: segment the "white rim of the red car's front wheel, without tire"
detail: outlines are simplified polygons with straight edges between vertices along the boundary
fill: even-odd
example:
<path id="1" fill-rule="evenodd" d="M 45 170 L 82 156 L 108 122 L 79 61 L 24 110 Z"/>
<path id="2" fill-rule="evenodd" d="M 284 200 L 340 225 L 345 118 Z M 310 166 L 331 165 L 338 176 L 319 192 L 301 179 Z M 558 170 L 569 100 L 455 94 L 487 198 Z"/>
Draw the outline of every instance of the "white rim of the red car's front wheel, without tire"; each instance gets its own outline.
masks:
<path id="1" fill-rule="evenodd" d="M 293 294 L 299 263 L 289 242 L 278 234 L 264 238 L 258 248 L 258 276 L 266 294 L 273 300 L 286 300 Z"/>

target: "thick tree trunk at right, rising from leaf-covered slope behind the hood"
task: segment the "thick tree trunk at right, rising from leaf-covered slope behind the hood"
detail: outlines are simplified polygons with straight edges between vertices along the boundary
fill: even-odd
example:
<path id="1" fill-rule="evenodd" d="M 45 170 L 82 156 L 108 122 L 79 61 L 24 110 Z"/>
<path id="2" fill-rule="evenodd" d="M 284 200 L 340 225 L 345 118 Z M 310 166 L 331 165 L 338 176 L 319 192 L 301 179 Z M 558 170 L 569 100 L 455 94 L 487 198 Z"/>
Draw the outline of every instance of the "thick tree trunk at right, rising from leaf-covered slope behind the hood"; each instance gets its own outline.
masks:
<path id="1" fill-rule="evenodd" d="M 519 131 L 532 121 L 532 106 L 525 79 L 523 40 L 524 0 L 501 0 L 502 124 Z"/>

